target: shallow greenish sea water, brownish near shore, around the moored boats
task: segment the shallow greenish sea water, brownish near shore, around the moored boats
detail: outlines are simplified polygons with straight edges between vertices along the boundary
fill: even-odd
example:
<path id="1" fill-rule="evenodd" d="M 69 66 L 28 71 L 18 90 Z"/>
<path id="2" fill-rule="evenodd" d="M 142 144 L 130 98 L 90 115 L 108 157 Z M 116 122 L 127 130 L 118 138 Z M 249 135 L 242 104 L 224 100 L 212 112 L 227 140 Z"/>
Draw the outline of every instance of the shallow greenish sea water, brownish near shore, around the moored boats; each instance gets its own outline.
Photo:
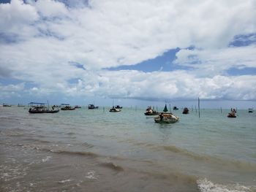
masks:
<path id="1" fill-rule="evenodd" d="M 256 112 L 0 107 L 0 191 L 256 191 Z"/>

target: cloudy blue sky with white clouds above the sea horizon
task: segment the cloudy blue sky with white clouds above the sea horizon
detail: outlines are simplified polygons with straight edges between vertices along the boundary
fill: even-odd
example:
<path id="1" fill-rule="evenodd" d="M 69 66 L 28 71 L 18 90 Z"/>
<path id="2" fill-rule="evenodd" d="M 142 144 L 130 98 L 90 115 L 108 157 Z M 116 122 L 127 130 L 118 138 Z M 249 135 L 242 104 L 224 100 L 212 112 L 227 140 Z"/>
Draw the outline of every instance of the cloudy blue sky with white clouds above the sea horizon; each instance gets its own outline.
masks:
<path id="1" fill-rule="evenodd" d="M 0 0 L 0 103 L 256 107 L 255 0 Z"/>

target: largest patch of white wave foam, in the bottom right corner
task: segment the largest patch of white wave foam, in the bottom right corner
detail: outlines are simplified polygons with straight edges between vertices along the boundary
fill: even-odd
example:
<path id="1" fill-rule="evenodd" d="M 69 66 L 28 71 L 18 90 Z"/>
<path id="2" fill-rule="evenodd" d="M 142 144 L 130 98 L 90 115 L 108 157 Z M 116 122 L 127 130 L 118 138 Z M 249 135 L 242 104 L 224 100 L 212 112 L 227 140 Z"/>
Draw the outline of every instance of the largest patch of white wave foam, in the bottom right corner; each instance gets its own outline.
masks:
<path id="1" fill-rule="evenodd" d="M 249 192 L 253 191 L 251 187 L 246 187 L 239 184 L 222 185 L 212 183 L 210 180 L 200 179 L 197 180 L 198 188 L 201 192 Z"/>

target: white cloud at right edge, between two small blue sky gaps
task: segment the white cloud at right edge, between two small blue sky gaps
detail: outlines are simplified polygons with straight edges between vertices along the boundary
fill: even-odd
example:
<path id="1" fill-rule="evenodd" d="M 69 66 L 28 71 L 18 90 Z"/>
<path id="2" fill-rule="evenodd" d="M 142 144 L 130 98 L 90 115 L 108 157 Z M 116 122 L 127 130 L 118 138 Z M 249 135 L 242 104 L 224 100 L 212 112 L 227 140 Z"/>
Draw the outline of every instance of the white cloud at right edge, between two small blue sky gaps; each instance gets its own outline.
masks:
<path id="1" fill-rule="evenodd" d="M 175 63 L 193 67 L 198 76 L 225 74 L 228 69 L 256 67 L 256 45 L 215 50 L 180 50 Z"/>

